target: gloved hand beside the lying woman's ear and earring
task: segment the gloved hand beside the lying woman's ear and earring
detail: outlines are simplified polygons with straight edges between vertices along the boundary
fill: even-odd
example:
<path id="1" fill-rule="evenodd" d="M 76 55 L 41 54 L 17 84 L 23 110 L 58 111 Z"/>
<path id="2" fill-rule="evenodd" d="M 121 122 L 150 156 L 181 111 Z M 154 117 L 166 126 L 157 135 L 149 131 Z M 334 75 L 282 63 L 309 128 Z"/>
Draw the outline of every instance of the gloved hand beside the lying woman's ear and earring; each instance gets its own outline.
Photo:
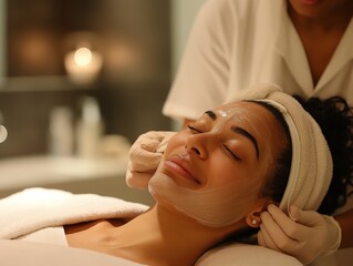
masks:
<path id="1" fill-rule="evenodd" d="M 341 228 L 333 217 L 300 211 L 295 206 L 291 206 L 290 212 L 295 221 L 274 205 L 261 213 L 262 224 L 258 233 L 261 246 L 292 255 L 303 265 L 339 248 Z"/>

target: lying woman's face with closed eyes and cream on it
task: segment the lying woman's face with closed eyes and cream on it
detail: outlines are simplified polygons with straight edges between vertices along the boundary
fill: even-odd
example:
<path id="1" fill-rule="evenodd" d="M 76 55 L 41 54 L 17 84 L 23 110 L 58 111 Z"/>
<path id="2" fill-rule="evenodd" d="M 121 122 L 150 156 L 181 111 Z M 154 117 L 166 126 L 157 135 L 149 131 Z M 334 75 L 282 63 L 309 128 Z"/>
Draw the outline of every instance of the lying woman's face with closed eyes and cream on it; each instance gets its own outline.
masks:
<path id="1" fill-rule="evenodd" d="M 260 202 L 261 185 L 284 143 L 279 127 L 267 109 L 252 102 L 206 112 L 170 139 L 152 178 L 152 194 L 186 213 L 198 207 L 219 209 L 217 215 L 224 218 L 204 224 L 239 221 Z M 215 215 L 200 216 L 209 219 Z"/>

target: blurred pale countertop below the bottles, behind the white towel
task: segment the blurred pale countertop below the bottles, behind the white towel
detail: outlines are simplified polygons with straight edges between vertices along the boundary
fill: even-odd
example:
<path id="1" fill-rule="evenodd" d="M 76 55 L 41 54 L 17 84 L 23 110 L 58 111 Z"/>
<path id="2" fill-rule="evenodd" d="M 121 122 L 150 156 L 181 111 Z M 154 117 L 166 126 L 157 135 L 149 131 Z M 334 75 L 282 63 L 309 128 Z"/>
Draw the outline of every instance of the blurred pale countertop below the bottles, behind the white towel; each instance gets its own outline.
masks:
<path id="1" fill-rule="evenodd" d="M 32 155 L 0 160 L 0 198 L 27 187 L 95 193 L 150 205 L 148 191 L 125 184 L 128 157 L 64 157 Z"/>

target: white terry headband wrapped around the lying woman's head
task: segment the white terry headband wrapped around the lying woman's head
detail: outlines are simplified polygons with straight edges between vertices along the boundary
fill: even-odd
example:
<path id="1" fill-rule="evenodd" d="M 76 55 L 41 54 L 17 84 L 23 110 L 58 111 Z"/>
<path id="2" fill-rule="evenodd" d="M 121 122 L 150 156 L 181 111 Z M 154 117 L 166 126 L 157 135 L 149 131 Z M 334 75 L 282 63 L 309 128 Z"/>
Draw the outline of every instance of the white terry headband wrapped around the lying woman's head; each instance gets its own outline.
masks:
<path id="1" fill-rule="evenodd" d="M 292 96 L 273 84 L 257 86 L 240 93 L 237 100 L 267 102 L 278 109 L 289 126 L 292 141 L 292 162 L 280 208 L 320 207 L 332 178 L 332 157 L 318 123 Z"/>

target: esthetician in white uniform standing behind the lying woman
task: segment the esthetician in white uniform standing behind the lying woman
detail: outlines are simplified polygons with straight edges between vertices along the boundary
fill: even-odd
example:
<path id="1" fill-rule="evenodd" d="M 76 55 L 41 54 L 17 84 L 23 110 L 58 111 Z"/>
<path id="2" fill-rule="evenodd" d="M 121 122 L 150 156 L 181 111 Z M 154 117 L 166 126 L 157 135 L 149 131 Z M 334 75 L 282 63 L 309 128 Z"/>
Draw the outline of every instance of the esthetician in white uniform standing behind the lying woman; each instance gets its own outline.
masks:
<path id="1" fill-rule="evenodd" d="M 163 113 L 185 125 L 260 82 L 307 99 L 339 95 L 353 105 L 352 14 L 352 0 L 206 1 Z M 159 135 L 154 142 L 165 135 L 155 134 Z M 322 227 L 340 232 L 320 216 L 301 212 L 293 223 L 280 209 L 263 213 L 259 244 L 303 264 L 334 252 L 333 247 L 353 246 L 353 211 L 334 216 L 342 241 L 340 233 L 314 237 Z"/>

